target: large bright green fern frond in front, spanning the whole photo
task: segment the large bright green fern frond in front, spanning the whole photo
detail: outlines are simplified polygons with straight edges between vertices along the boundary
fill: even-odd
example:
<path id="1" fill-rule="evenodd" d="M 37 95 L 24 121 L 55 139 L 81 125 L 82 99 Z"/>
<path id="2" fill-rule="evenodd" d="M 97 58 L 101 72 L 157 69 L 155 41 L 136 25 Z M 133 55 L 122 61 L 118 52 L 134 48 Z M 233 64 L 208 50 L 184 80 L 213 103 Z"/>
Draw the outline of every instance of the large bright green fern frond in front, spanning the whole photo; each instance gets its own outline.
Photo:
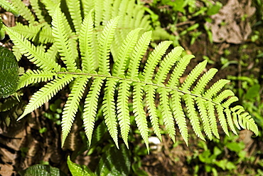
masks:
<path id="1" fill-rule="evenodd" d="M 141 138 L 149 150 L 149 126 L 144 110 L 145 103 L 154 133 L 161 140 L 160 117 L 157 115 L 155 104 L 157 95 L 159 95 L 163 123 L 173 141 L 176 140 L 176 125 L 178 125 L 183 140 L 188 144 L 187 119 L 190 120 L 194 133 L 203 140 L 205 136 L 209 139 L 212 139 L 213 135 L 219 138 L 217 118 L 227 135 L 229 128 L 235 134 L 237 134 L 236 128 L 245 128 L 252 130 L 255 135 L 258 134 L 257 125 L 244 108 L 241 105 L 232 105 L 237 101 L 234 93 L 231 90 L 222 90 L 229 81 L 221 79 L 210 88 L 206 88 L 217 72 L 215 68 L 211 68 L 203 73 L 207 61 L 195 66 L 186 80 L 180 84 L 179 79 L 190 60 L 194 58 L 193 55 L 183 56 L 182 47 L 173 48 L 164 56 L 172 42 L 162 41 L 149 54 L 141 71 L 139 66 L 151 41 L 151 31 L 142 34 L 141 28 L 129 31 L 124 40 L 118 41 L 120 44 L 116 49 L 114 37 L 118 33 L 118 22 L 122 21 L 124 16 L 110 19 L 98 34 L 96 19 L 94 20 L 96 10 L 92 9 L 86 14 L 78 32 L 76 29 L 78 35 L 74 38 L 72 33 L 75 32 L 70 28 L 60 5 L 55 9 L 51 9 L 50 6 L 48 10 L 52 17 L 52 27 L 48 30 L 52 33 L 50 38 L 53 38 L 53 45 L 46 51 L 43 47 L 33 45 L 28 41 L 28 36 L 23 36 L 16 29 L 4 27 L 16 48 L 38 67 L 37 70 L 27 71 L 19 78 L 18 89 L 32 83 L 48 81 L 43 88 L 33 94 L 18 120 L 48 102 L 70 83 L 70 94 L 62 116 L 62 145 L 70 133 L 82 98 L 85 99 L 83 124 L 89 145 L 91 144 L 100 96 L 103 97 L 102 112 L 107 130 L 117 147 L 119 147 L 118 128 L 124 143 L 129 147 L 130 115 L 133 114 Z M 76 24 L 74 26 L 76 27 Z M 95 36 L 97 36 L 96 40 L 94 40 Z M 48 37 L 42 37 L 43 41 L 48 41 Z M 74 38 L 73 41 L 78 45 L 71 38 Z M 54 48 L 65 66 L 52 57 L 53 52 L 50 50 Z M 113 66 L 109 59 L 111 53 L 114 57 Z M 98 63 L 97 67 L 95 61 Z M 158 71 L 156 68 L 159 68 Z M 85 89 L 88 93 L 83 97 Z M 129 100 L 132 100 L 132 112 L 129 112 Z M 186 111 L 183 110 L 184 105 Z"/>

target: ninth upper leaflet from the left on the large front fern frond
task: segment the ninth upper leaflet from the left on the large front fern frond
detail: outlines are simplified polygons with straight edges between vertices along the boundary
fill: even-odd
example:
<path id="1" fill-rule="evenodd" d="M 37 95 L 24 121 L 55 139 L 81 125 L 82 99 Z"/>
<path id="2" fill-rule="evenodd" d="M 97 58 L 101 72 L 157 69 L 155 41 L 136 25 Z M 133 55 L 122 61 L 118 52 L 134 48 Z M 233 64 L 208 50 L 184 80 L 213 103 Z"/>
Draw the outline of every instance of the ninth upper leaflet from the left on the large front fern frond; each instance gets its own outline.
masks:
<path id="1" fill-rule="evenodd" d="M 177 88 L 179 78 L 181 78 L 181 76 L 183 75 L 183 71 L 186 70 L 186 66 L 188 66 L 188 63 L 190 63 L 190 60 L 194 57 L 195 56 L 193 55 L 186 55 L 179 60 L 179 62 L 176 65 L 176 68 L 174 68 L 173 73 L 171 74 L 171 78 L 168 81 L 169 87 Z"/>

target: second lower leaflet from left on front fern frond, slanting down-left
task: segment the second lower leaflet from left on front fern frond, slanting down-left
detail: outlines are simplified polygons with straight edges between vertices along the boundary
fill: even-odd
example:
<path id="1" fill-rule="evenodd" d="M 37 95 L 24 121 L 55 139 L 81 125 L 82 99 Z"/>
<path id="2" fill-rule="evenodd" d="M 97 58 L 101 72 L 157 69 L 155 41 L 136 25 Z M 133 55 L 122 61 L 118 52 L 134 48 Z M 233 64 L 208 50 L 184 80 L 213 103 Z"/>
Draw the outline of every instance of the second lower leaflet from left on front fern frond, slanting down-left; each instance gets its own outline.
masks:
<path id="1" fill-rule="evenodd" d="M 25 117 L 28 113 L 31 113 L 33 110 L 36 110 L 41 105 L 46 103 L 56 93 L 58 93 L 58 90 L 62 89 L 72 80 L 73 75 L 66 75 L 60 78 L 56 78 L 50 83 L 47 83 L 43 88 L 41 88 L 32 95 L 32 98 L 29 100 L 28 105 L 26 105 L 26 109 L 23 111 L 23 114 L 17 120 L 21 120 L 21 118 Z"/>

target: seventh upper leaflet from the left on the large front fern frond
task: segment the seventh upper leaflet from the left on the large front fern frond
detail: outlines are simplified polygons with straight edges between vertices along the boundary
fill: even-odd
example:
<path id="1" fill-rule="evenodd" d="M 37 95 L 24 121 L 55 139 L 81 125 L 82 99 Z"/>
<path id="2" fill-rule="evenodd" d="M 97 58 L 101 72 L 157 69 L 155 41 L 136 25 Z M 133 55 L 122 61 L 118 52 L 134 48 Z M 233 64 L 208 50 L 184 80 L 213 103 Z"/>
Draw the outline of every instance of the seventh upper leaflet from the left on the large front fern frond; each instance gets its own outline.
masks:
<path id="1" fill-rule="evenodd" d="M 173 43 L 172 41 L 162 41 L 159 43 L 156 48 L 154 48 L 154 51 L 151 52 L 149 58 L 147 59 L 147 62 L 144 67 L 144 72 L 142 73 L 142 79 L 145 82 L 151 82 L 154 70 L 161 60 L 161 56 L 166 52 L 167 48 Z"/>

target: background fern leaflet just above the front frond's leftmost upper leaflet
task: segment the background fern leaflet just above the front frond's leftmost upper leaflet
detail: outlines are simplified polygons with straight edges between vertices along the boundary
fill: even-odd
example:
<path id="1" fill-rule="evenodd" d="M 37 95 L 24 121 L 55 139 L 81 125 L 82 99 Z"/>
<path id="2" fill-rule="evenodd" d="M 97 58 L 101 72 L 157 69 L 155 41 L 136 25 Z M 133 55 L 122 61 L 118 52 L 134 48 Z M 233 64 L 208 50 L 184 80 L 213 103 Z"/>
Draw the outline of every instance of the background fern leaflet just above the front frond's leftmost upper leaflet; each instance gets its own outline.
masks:
<path id="1" fill-rule="evenodd" d="M 35 41 L 38 37 L 38 43 L 53 43 L 52 30 L 50 26 L 45 25 L 23 25 L 16 23 L 16 26 L 11 27 L 12 30 L 20 33 L 28 40 Z"/>

